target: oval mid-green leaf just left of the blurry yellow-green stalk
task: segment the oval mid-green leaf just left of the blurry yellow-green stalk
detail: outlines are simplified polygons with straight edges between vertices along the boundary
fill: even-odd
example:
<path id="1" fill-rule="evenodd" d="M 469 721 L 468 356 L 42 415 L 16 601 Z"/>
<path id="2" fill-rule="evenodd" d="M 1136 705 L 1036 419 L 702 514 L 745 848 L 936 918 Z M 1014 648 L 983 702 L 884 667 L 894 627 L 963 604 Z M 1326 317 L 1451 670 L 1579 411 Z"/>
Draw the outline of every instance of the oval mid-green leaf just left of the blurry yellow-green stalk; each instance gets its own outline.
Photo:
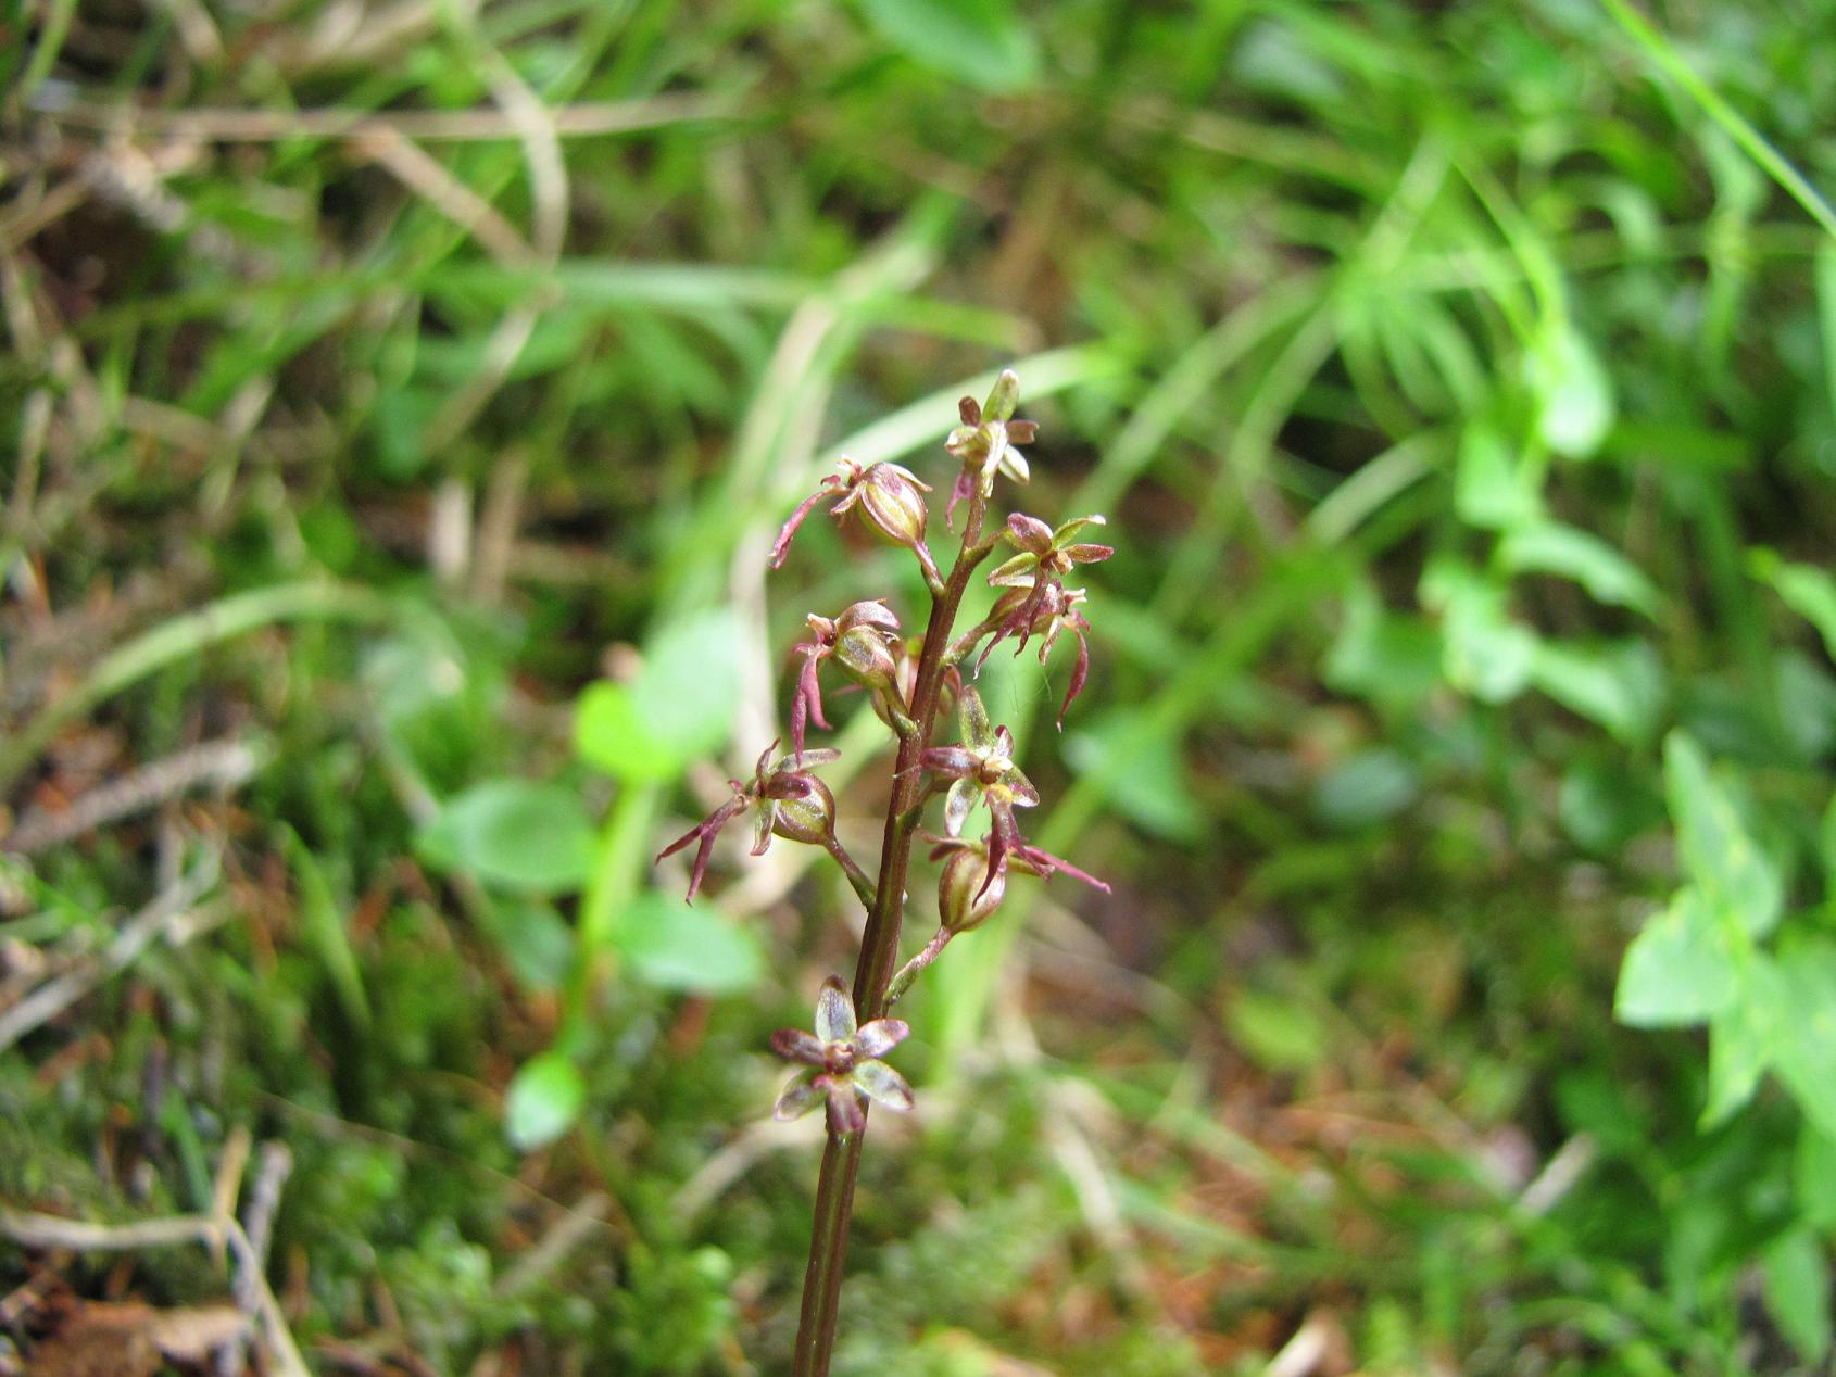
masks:
<path id="1" fill-rule="evenodd" d="M 494 778 L 448 799 L 415 839 L 441 870 L 529 894 L 578 889 L 593 870 L 593 821 L 560 784 Z"/>

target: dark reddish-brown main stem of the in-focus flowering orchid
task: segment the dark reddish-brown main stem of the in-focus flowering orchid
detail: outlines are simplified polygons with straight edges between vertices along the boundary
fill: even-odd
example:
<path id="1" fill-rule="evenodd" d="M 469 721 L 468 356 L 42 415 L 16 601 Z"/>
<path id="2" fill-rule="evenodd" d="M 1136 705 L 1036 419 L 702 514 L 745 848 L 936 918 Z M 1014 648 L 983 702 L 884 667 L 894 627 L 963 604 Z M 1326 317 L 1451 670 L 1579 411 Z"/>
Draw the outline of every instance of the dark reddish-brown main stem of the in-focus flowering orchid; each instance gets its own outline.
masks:
<path id="1" fill-rule="evenodd" d="M 931 619 L 925 624 L 911 701 L 911 716 L 918 731 L 900 734 L 900 753 L 892 766 L 892 797 L 887 800 L 885 841 L 879 848 L 879 883 L 867 911 L 861 960 L 854 971 L 854 1010 L 861 1023 L 878 1019 L 885 1012 L 887 988 L 900 957 L 905 870 L 911 863 L 912 832 L 918 826 L 924 799 L 924 771 L 918 762 L 931 744 L 931 729 L 936 725 L 938 694 L 947 668 L 946 652 L 951 628 L 957 622 L 957 608 L 962 606 L 962 595 L 969 589 L 975 565 L 988 558 L 993 549 L 993 540 L 982 540 L 984 510 L 986 499 L 980 492 L 973 492 L 957 564 L 942 591 L 933 589 L 931 595 Z M 835 1348 L 835 1307 L 841 1302 L 841 1267 L 848 1250 L 848 1221 L 854 1217 L 854 1179 L 861 1168 L 863 1136 L 867 1136 L 865 1127 L 852 1135 L 832 1131 L 828 1146 L 823 1149 L 823 1171 L 815 1186 L 815 1221 L 810 1234 L 810 1267 L 804 1272 L 797 1355 L 791 1368 L 797 1377 L 824 1377 L 830 1353 Z"/>

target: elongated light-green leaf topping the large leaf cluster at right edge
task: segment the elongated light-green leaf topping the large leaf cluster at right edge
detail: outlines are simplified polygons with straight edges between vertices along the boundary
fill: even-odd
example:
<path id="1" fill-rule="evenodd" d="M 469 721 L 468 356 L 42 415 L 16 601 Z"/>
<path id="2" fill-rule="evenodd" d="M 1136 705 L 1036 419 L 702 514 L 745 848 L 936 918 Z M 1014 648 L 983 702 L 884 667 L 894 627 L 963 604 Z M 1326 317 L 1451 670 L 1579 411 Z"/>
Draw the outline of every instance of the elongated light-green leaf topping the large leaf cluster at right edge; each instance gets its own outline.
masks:
<path id="1" fill-rule="evenodd" d="M 1663 742 L 1663 791 L 1684 870 L 1709 907 L 1724 909 L 1753 936 L 1770 933 L 1785 903 L 1779 868 L 1748 835 L 1702 747 L 1682 731 Z"/>

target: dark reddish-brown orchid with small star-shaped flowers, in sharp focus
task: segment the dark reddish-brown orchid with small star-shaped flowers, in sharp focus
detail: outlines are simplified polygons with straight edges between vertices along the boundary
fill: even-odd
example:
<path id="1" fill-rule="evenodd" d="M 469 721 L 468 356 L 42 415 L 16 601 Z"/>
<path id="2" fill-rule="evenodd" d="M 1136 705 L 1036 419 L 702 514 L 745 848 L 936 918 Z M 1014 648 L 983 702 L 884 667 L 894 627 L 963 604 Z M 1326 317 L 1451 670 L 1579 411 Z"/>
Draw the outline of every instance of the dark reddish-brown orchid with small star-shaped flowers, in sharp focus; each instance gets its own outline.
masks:
<path id="1" fill-rule="evenodd" d="M 837 617 L 812 613 L 810 639 L 797 644 L 802 668 L 791 698 L 789 755 L 773 758 L 778 744 L 767 745 L 758 756 L 753 780 L 729 780 L 733 795 L 657 856 L 663 861 L 694 843 L 688 876 L 688 898 L 694 900 L 716 835 L 729 821 L 751 810 L 755 856 L 773 837 L 821 846 L 841 867 L 867 909 L 852 990 L 841 977 L 830 977 L 817 999 L 815 1030 L 786 1028 L 771 1039 L 778 1056 L 800 1065 L 778 1096 L 777 1116 L 795 1118 L 823 1107 L 828 1122 L 797 1329 L 795 1371 L 800 1375 L 826 1373 L 835 1344 L 843 1254 L 868 1107 L 907 1111 L 914 1103 L 905 1078 L 885 1061 L 911 1028 L 887 1017 L 887 1012 L 955 936 L 984 924 L 1001 907 L 1010 874 L 1041 879 L 1065 874 L 1109 892 L 1103 881 L 1026 841 L 1015 810 L 1037 806 L 1039 791 L 1013 760 L 1013 734 L 1004 725 L 993 725 L 980 694 L 973 683 L 964 683 L 962 674 L 962 665 L 975 655 L 973 677 L 990 652 L 1008 639 L 1017 643 L 1017 655 L 1032 637 L 1039 637 L 1039 661 L 1045 663 L 1069 632 L 1078 654 L 1059 709 L 1059 727 L 1089 676 L 1089 621 L 1081 611 L 1085 589 L 1067 588 L 1065 578 L 1078 565 L 1111 556 L 1109 545 L 1083 540 L 1089 527 L 1102 525 L 1103 518 L 1080 516 L 1052 527 L 1013 512 L 1006 521 L 990 521 L 995 481 L 1004 477 L 1024 485 L 1030 477 L 1019 446 L 1030 444 L 1039 428 L 1013 417 L 1017 404 L 1019 378 L 1004 371 L 986 402 L 964 397 L 958 406 L 962 424 L 946 441 L 946 450 L 958 463 L 946 525 L 955 529 L 958 505 L 968 510 L 947 575 L 925 543 L 929 510 L 924 494 L 931 487 L 900 465 L 843 459 L 839 470 L 824 477 L 817 492 L 791 512 L 771 547 L 773 569 L 788 558 L 791 540 L 808 516 L 824 499 L 834 499 L 828 512 L 835 520 L 856 520 L 876 536 L 909 549 L 918 560 L 931 593 L 924 632 L 905 635 L 885 599 L 854 602 Z M 957 613 L 971 578 L 1002 545 L 1012 547 L 1013 554 L 986 575 L 988 584 L 1001 589 L 993 608 L 957 635 Z M 834 762 L 837 753 L 804 744 L 812 725 L 828 729 L 823 711 L 824 672 L 841 674 L 867 690 L 879 720 L 898 738 L 879 867 L 872 878 L 835 837 L 835 797 L 813 773 L 817 766 Z M 951 711 L 960 729 L 957 744 L 933 745 L 938 718 L 947 718 Z M 944 800 L 944 830 L 933 835 L 922 832 L 920 824 L 927 806 L 938 797 Z M 973 826 L 977 810 L 988 813 L 986 830 Z M 905 889 L 912 845 L 920 835 L 931 843 L 931 859 L 942 863 L 936 889 L 938 929 L 901 966 L 898 957 Z"/>

